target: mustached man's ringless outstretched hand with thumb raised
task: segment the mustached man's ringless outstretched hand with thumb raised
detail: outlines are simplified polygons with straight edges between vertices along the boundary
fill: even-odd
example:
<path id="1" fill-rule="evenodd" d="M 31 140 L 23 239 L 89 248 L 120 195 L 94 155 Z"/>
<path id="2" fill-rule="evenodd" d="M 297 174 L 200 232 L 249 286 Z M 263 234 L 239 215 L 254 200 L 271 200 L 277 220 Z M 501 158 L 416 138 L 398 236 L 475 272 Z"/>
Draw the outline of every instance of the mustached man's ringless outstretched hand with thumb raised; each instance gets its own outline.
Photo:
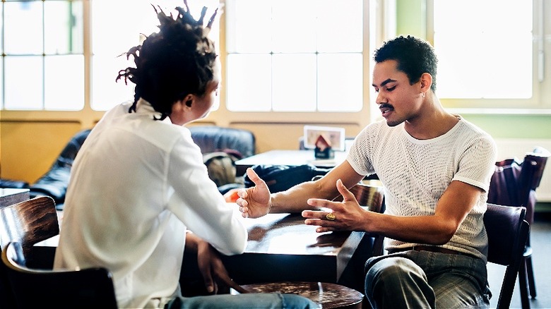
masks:
<path id="1" fill-rule="evenodd" d="M 270 189 L 253 169 L 247 169 L 247 176 L 254 182 L 254 187 L 239 190 L 236 202 L 244 218 L 259 218 L 270 212 Z"/>

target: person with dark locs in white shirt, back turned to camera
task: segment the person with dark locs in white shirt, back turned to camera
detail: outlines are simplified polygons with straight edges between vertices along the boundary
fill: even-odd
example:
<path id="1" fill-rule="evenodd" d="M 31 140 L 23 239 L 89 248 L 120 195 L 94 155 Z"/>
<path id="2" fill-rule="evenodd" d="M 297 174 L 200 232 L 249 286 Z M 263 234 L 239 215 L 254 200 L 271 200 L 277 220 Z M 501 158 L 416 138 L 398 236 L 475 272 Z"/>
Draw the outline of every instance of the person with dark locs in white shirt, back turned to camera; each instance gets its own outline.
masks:
<path id="1" fill-rule="evenodd" d="M 280 293 L 181 296 L 184 247 L 198 255 L 209 292 L 216 281 L 243 291 L 219 254 L 243 253 L 247 229 L 183 127 L 206 116 L 218 95 L 218 55 L 207 37 L 215 16 L 203 28 L 206 8 L 199 21 L 187 5 L 176 18 L 155 12 L 159 32 L 130 49 L 136 67 L 117 78 L 136 84 L 134 102 L 107 111 L 76 156 L 54 268 L 106 267 L 119 308 L 316 307 Z"/>

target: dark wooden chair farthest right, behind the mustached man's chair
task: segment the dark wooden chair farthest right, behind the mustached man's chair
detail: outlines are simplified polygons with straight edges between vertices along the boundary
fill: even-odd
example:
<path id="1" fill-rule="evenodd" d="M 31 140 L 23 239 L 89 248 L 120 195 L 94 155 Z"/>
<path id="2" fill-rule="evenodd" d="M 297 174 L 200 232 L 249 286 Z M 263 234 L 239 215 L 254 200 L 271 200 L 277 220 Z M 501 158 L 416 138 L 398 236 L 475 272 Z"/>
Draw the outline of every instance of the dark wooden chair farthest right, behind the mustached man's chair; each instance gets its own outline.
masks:
<path id="1" fill-rule="evenodd" d="M 540 186 L 543 170 L 550 152 L 543 147 L 535 147 L 526 154 L 522 162 L 516 159 L 505 159 L 496 162 L 496 171 L 490 183 L 488 202 L 526 207 L 526 221 L 533 224 L 536 202 L 535 190 Z M 528 291 L 535 298 L 535 280 L 532 267 L 532 247 L 530 236 L 523 253 L 523 262 L 519 270 L 519 285 L 523 308 L 530 308 Z"/>

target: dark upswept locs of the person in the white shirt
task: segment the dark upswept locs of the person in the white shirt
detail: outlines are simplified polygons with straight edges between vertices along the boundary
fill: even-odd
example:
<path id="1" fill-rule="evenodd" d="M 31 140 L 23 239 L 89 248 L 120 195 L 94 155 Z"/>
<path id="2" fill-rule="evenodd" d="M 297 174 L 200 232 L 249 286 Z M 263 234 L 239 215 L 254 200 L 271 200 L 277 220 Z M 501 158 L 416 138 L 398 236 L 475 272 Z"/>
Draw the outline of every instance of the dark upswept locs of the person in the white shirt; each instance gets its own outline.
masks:
<path id="1" fill-rule="evenodd" d="M 218 8 L 203 27 L 207 8 L 203 7 L 201 17 L 195 20 L 186 0 L 184 5 L 185 8 L 175 8 L 176 18 L 172 13 L 167 16 L 159 6 L 153 6 L 160 23 L 159 31 L 126 52 L 126 59 L 134 56 L 136 67 L 119 71 L 116 80 L 124 77 L 124 83 L 130 80 L 136 84 L 134 104 L 129 113 L 136 111 L 136 103 L 141 97 L 161 113 L 160 119 L 155 120 L 165 119 L 172 112 L 174 102 L 189 94 L 201 97 L 208 82 L 213 80 L 218 55 L 207 35 Z"/>

